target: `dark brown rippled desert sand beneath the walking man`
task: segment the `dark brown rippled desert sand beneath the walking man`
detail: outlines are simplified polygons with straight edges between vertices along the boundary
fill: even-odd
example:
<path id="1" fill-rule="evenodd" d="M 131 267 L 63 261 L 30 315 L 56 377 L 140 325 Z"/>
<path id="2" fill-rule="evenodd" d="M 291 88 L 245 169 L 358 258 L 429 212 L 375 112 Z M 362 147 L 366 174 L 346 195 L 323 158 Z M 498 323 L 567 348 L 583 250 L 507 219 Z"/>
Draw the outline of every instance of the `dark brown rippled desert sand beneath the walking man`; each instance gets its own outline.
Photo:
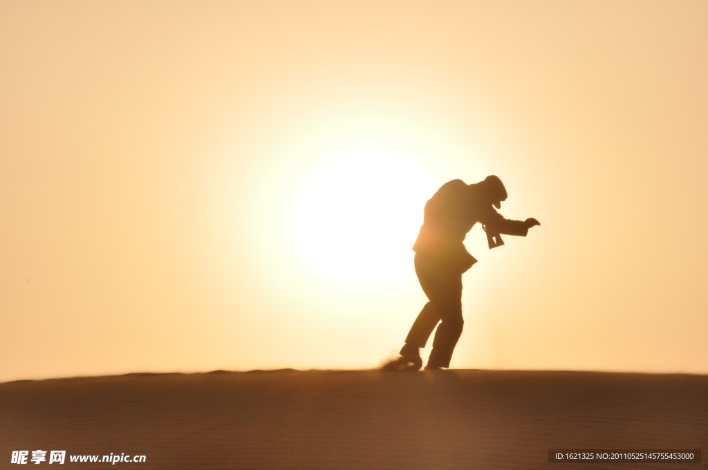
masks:
<path id="1" fill-rule="evenodd" d="M 140 469 L 708 468 L 549 464 L 556 448 L 705 454 L 708 376 L 282 370 L 0 384 L 0 469 L 36 449 L 144 454 L 114 467 Z"/>

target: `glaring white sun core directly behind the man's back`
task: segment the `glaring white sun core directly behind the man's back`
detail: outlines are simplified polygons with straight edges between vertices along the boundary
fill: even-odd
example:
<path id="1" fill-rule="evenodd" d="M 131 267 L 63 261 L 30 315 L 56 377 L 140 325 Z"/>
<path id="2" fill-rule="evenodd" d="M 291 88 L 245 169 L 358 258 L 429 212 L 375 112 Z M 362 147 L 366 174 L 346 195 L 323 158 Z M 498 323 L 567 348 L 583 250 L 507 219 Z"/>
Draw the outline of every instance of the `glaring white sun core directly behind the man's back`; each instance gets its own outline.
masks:
<path id="1" fill-rule="evenodd" d="M 347 282 L 387 282 L 411 270 L 429 178 L 386 149 L 341 152 L 305 178 L 295 201 L 304 260 Z"/>

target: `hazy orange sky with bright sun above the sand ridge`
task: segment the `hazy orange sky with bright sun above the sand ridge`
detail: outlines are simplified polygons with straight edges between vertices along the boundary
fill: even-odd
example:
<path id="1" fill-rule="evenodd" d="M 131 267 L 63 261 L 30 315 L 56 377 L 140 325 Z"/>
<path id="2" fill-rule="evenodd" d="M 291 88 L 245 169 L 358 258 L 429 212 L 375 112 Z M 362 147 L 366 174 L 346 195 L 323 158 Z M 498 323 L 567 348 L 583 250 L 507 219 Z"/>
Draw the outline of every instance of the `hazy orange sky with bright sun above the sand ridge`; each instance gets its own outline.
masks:
<path id="1" fill-rule="evenodd" d="M 447 180 L 542 223 L 451 367 L 708 373 L 708 3 L 0 3 L 0 380 L 364 368 Z"/>

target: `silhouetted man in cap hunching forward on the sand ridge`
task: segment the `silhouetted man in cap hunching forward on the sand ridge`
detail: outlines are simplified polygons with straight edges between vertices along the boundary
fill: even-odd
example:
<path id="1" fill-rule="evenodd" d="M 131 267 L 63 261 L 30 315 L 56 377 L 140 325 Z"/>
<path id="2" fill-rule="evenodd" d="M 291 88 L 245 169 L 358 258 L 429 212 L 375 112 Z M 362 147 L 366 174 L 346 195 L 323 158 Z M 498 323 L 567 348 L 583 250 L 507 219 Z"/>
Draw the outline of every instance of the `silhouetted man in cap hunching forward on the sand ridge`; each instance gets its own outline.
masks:
<path id="1" fill-rule="evenodd" d="M 433 339 L 426 370 L 450 367 L 452 350 L 462 333 L 462 273 L 477 262 L 464 248 L 464 236 L 480 222 L 486 231 L 489 248 L 503 245 L 501 234 L 526 236 L 540 225 L 536 219 L 509 220 L 496 212 L 506 200 L 506 188 L 496 176 L 468 185 L 462 180 L 448 181 L 426 202 L 423 226 L 413 251 L 416 275 L 428 302 L 418 314 L 401 357 L 384 369 L 418 370 L 423 365 L 420 348 L 425 348 L 430 333 L 440 322 Z"/>

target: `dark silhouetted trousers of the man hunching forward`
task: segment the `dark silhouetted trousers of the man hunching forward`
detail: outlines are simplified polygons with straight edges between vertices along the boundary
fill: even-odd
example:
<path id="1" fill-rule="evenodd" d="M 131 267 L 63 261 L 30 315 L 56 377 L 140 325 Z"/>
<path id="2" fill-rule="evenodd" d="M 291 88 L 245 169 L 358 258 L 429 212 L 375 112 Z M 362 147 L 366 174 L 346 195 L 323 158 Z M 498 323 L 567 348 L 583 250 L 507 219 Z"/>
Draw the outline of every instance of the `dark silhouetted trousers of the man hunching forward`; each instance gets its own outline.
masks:
<path id="1" fill-rule="evenodd" d="M 450 367 L 452 351 L 462 334 L 462 273 L 455 265 L 427 253 L 416 253 L 416 275 L 428 303 L 418 314 L 406 337 L 406 344 L 425 348 L 435 331 L 428 365 Z"/>

